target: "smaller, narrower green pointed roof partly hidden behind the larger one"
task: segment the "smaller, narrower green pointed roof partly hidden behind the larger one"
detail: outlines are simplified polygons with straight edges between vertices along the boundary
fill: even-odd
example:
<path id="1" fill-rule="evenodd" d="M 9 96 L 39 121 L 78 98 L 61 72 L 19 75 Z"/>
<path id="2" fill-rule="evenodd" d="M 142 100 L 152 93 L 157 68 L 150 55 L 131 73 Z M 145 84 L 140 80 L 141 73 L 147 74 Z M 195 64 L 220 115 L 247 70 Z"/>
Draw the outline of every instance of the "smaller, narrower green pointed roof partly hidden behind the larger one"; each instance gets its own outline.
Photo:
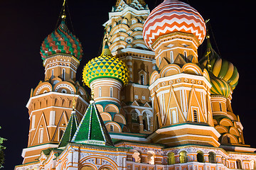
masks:
<path id="1" fill-rule="evenodd" d="M 78 129 L 78 117 L 77 117 L 75 111 L 72 111 L 70 120 L 68 120 L 68 125 L 65 128 L 65 132 L 64 132 L 63 136 L 61 137 L 58 147 L 67 146 L 68 142 L 71 142 L 77 129 Z"/>

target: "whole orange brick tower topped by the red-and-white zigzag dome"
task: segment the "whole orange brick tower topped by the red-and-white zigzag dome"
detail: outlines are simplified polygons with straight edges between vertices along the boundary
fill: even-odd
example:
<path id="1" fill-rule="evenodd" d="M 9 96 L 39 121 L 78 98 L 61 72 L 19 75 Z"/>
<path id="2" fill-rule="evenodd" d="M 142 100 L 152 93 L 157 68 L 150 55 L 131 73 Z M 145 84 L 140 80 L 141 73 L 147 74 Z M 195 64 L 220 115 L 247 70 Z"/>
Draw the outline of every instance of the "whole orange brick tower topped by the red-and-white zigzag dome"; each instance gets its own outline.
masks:
<path id="1" fill-rule="evenodd" d="M 156 132 L 148 138 L 169 146 L 218 147 L 210 77 L 198 64 L 197 48 L 206 36 L 201 15 L 181 1 L 165 0 L 146 19 L 143 35 L 158 68 L 149 81 Z"/>

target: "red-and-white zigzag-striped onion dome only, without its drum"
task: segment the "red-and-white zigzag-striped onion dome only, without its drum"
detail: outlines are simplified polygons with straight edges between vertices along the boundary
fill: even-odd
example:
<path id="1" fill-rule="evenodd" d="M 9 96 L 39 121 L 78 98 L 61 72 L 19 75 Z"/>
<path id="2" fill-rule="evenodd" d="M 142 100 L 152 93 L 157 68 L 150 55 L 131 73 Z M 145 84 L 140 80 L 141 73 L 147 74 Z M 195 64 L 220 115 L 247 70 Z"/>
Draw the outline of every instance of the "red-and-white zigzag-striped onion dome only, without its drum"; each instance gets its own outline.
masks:
<path id="1" fill-rule="evenodd" d="M 206 37 L 206 23 L 200 13 L 188 4 L 178 0 L 165 0 L 146 19 L 143 37 L 146 45 L 151 48 L 161 35 L 176 31 L 195 35 L 201 44 Z"/>

